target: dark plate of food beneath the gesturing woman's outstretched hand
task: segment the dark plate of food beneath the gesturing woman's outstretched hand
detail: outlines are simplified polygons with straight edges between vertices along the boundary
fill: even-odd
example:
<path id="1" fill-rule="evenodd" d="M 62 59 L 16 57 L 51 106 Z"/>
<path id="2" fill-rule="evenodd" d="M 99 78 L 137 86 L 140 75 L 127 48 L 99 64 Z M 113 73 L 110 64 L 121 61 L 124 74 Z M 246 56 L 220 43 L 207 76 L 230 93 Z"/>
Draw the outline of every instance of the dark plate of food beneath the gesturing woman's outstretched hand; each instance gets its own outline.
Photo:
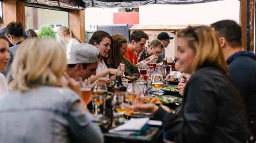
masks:
<path id="1" fill-rule="evenodd" d="M 150 117 L 153 118 L 153 114 L 152 113 L 146 113 L 146 112 L 137 112 L 137 111 L 133 111 L 131 109 L 127 109 L 124 112 L 124 117 L 125 118 L 144 118 L 144 117 Z"/>

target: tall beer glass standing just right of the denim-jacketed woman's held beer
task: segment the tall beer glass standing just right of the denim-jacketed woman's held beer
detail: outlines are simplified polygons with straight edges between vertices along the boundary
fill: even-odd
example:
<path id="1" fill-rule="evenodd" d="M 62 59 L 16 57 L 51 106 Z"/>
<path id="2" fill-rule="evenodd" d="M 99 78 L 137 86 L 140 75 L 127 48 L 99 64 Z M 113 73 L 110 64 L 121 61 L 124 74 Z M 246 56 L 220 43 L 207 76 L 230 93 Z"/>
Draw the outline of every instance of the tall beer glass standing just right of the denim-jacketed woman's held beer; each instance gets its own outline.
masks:
<path id="1" fill-rule="evenodd" d="M 105 84 L 97 83 L 93 89 L 93 113 L 96 118 L 103 117 L 105 114 L 106 96 L 108 90 Z"/>

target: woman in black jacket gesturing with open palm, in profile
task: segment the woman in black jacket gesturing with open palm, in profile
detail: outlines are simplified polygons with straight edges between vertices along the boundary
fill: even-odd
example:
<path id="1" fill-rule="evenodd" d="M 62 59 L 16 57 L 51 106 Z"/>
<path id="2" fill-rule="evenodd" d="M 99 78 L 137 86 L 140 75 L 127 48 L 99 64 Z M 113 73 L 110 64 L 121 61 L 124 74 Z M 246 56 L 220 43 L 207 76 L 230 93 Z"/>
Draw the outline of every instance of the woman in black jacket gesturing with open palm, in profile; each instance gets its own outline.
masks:
<path id="1" fill-rule="evenodd" d="M 246 142 L 251 135 L 243 97 L 231 77 L 216 33 L 208 26 L 178 33 L 180 72 L 191 74 L 185 87 L 182 115 L 168 113 L 137 96 L 132 106 L 154 113 L 165 131 L 181 143 Z"/>

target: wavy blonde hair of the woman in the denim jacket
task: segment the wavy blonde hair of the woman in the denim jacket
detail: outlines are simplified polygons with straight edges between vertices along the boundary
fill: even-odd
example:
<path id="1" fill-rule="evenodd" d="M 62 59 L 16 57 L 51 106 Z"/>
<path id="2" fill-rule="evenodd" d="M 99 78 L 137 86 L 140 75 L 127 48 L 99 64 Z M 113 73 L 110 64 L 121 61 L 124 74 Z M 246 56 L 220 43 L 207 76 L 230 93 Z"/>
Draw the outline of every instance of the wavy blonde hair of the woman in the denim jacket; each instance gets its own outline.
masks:
<path id="1" fill-rule="evenodd" d="M 67 87 L 62 76 L 66 70 L 66 53 L 51 38 L 31 38 L 19 45 L 11 65 L 10 90 L 29 91 L 39 85 Z"/>

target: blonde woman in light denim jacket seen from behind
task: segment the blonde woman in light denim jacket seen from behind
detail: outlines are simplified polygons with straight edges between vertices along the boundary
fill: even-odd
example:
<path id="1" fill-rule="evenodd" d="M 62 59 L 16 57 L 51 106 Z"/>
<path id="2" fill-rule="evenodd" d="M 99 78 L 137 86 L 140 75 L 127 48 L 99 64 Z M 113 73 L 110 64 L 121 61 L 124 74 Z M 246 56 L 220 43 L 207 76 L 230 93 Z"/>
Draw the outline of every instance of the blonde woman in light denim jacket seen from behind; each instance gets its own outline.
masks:
<path id="1" fill-rule="evenodd" d="M 32 38 L 17 53 L 11 91 L 0 98 L 0 142 L 103 142 L 93 116 L 82 109 L 80 86 L 63 76 L 62 46 L 54 39 Z"/>

